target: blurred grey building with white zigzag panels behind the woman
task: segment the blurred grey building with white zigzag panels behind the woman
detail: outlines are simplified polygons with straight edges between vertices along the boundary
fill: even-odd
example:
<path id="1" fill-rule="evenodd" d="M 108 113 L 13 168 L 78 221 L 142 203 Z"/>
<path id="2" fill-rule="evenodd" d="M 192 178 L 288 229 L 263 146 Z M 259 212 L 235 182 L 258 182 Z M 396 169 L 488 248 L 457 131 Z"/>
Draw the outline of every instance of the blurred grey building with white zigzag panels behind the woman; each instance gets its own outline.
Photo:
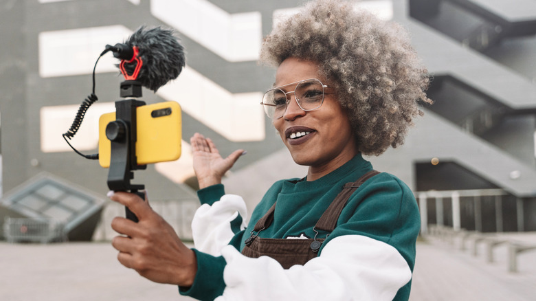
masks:
<path id="1" fill-rule="evenodd" d="M 102 201 L 107 169 L 76 155 L 61 134 L 91 93 L 91 71 L 104 46 L 124 41 L 140 25 L 173 27 L 186 47 L 187 67 L 179 78 L 157 93 L 144 89 L 143 98 L 181 104 L 183 155 L 139 170 L 133 180 L 145 184 L 153 206 L 183 238 L 197 208 L 188 146 L 195 132 L 211 137 L 222 155 L 247 150 L 224 183 L 250 211 L 273 181 L 304 175 L 258 104 L 274 70 L 256 63 L 263 36 L 301 3 L 0 0 L 0 225 L 8 226 L 8 217 L 34 219 L 28 210 L 65 224 L 74 209 L 61 204 L 70 204 L 67 191 L 78 188 L 100 199 L 102 221 L 122 214 Z M 357 6 L 406 27 L 434 76 L 429 97 L 435 103 L 405 145 L 370 158 L 377 170 L 414 190 L 423 233 L 428 225 L 536 231 L 536 1 L 370 0 Z M 107 54 L 97 66 L 99 100 L 71 140 L 82 153 L 97 152 L 98 117 L 120 100 L 115 63 Z M 10 201 L 30 194 L 43 175 L 70 188 L 54 190 L 55 197 Z M 13 208 L 17 204 L 25 210 Z M 90 207 L 76 207 L 77 216 L 89 219 Z M 109 227 L 86 224 L 93 239 L 113 235 Z"/>

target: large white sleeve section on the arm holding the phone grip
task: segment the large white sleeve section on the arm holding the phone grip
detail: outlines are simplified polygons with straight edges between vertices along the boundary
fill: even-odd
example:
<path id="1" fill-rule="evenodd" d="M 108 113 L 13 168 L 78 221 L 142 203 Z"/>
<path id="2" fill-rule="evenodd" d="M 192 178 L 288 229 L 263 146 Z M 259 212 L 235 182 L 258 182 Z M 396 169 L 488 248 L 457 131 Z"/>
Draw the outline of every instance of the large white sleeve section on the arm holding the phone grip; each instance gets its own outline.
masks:
<path id="1" fill-rule="evenodd" d="M 232 246 L 221 253 L 226 287 L 216 301 L 392 300 L 412 278 L 397 249 L 359 235 L 333 238 L 320 256 L 290 269 L 267 256 L 248 258 Z"/>

